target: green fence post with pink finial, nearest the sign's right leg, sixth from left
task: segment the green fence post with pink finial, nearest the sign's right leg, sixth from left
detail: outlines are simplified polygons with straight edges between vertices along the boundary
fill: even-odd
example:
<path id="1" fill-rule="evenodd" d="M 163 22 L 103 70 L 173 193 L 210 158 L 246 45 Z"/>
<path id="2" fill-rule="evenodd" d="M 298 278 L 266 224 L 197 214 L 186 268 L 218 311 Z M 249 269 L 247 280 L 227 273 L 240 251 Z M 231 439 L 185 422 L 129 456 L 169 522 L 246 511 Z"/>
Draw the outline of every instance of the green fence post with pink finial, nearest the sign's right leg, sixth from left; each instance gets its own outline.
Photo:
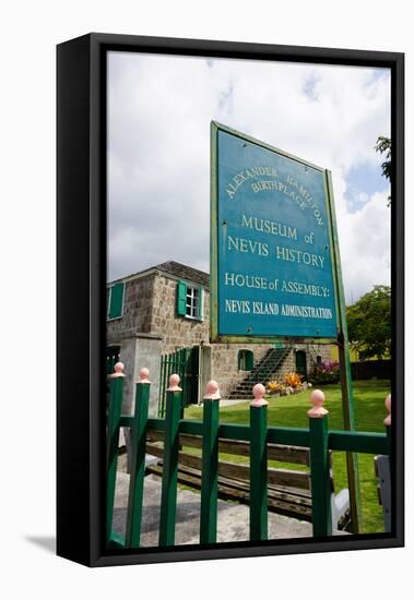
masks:
<path id="1" fill-rule="evenodd" d="M 328 447 L 328 410 L 324 394 L 314 389 L 308 410 L 314 536 L 332 536 L 331 479 Z"/>

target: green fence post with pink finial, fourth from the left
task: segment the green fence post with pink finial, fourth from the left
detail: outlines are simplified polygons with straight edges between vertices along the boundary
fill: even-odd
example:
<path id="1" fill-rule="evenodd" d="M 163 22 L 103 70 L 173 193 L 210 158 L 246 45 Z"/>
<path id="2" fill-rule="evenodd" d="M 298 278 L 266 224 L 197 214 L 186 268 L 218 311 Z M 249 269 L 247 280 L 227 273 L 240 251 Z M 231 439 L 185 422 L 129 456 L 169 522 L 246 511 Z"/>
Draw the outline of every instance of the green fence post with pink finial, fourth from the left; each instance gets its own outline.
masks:
<path id="1" fill-rule="evenodd" d="M 217 538 L 218 405 L 218 384 L 212 380 L 203 398 L 200 543 Z"/>

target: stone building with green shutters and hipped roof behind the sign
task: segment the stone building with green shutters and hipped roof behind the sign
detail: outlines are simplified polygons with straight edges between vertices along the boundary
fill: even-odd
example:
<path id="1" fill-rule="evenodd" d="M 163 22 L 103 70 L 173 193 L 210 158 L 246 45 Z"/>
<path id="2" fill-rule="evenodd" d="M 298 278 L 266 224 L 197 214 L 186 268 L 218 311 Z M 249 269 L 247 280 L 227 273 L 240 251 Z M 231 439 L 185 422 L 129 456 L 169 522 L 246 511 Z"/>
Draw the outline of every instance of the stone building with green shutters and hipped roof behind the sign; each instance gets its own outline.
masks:
<path id="1" fill-rule="evenodd" d="M 182 360 L 187 401 L 197 403 L 211 377 L 223 398 L 235 399 L 289 371 L 306 377 L 315 363 L 331 358 L 323 345 L 210 344 L 209 286 L 208 273 L 174 261 L 108 284 L 107 370 L 117 360 L 125 363 L 125 410 L 132 407 L 142 367 L 151 372 L 150 413 L 156 416 L 167 375 Z"/>

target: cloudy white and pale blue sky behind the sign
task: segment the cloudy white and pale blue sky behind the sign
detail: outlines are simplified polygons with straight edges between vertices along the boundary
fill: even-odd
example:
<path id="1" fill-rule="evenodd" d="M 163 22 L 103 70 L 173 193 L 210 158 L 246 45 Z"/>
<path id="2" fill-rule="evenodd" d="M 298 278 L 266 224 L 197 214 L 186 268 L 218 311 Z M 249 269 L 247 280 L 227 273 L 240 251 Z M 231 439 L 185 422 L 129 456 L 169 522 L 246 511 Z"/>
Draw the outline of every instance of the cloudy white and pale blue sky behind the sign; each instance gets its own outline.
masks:
<path id="1" fill-rule="evenodd" d="M 387 69 L 133 52 L 108 57 L 108 280 L 210 271 L 210 122 L 332 171 L 347 303 L 390 285 Z"/>

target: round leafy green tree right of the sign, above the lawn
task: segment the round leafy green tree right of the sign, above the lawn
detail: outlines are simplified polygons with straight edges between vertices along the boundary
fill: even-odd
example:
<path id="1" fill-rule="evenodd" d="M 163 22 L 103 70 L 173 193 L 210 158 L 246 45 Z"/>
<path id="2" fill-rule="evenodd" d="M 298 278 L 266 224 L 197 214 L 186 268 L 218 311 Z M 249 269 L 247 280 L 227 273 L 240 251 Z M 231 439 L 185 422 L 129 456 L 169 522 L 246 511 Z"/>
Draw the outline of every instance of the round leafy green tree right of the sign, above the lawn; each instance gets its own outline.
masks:
<path id="1" fill-rule="evenodd" d="M 391 288 L 374 286 L 346 308 L 348 338 L 362 360 L 391 352 Z"/>

